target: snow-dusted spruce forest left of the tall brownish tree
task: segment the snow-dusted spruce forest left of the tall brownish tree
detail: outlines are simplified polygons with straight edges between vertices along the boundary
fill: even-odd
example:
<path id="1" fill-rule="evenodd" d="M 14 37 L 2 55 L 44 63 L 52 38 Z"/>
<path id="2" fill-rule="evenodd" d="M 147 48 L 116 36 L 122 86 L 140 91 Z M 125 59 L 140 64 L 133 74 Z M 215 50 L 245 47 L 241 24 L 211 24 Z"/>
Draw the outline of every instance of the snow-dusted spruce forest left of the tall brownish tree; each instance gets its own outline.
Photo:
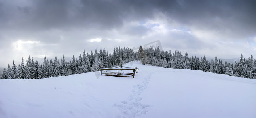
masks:
<path id="1" fill-rule="evenodd" d="M 80 74 L 85 72 L 99 71 L 100 68 L 110 68 L 118 66 L 120 63 L 128 63 L 136 59 L 137 52 L 131 48 L 114 47 L 113 53 L 108 53 L 108 50 L 95 49 L 90 54 L 83 51 L 83 55 L 79 54 L 78 58 L 73 55 L 72 61 L 67 61 L 63 58 L 59 61 L 57 57 L 54 60 L 48 60 L 44 57 L 43 64 L 34 61 L 30 56 L 24 62 L 21 59 L 21 64 L 15 65 L 13 60 L 12 66 L 8 64 L 4 68 L 0 79 L 41 79 L 48 77 L 67 76 L 72 74 Z"/>

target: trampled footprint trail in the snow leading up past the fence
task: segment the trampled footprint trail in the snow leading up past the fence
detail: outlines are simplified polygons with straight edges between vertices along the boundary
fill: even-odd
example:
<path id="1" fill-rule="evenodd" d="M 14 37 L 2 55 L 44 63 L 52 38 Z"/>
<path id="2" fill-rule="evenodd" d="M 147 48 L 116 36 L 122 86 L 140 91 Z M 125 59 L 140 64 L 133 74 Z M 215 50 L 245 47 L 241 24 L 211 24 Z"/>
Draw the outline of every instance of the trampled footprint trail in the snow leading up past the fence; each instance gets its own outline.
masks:
<path id="1" fill-rule="evenodd" d="M 150 77 L 155 72 L 151 72 L 144 78 L 141 84 L 133 86 L 132 94 L 129 95 L 127 100 L 121 101 L 121 104 L 114 104 L 115 107 L 121 111 L 117 118 L 134 118 L 148 112 L 150 105 L 141 104 L 140 101 L 143 99 L 140 94 L 144 89 L 148 87 Z"/>

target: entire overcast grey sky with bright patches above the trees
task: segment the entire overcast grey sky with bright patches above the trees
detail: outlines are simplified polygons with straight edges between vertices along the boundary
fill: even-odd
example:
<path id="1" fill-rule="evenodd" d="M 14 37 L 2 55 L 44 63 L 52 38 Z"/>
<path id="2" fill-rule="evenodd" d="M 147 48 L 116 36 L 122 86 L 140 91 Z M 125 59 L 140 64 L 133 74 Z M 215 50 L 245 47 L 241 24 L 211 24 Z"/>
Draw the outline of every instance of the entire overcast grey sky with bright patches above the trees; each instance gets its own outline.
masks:
<path id="1" fill-rule="evenodd" d="M 256 0 L 0 0 L 0 67 L 159 40 L 164 50 L 256 57 Z"/>

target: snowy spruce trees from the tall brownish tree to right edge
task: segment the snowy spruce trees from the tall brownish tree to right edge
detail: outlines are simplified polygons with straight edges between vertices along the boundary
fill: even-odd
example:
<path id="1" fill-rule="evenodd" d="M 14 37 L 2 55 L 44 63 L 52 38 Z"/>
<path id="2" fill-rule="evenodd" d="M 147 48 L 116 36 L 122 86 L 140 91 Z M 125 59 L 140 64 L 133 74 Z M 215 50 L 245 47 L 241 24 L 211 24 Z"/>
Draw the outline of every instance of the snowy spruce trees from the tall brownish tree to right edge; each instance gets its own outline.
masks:
<path id="1" fill-rule="evenodd" d="M 217 74 L 227 74 L 236 77 L 245 77 L 256 79 L 256 60 L 253 59 L 253 55 L 248 59 L 245 59 L 241 54 L 239 62 L 235 61 L 233 63 L 224 63 L 218 59 L 208 61 L 205 56 L 203 57 L 188 57 L 188 53 L 184 55 L 182 52 L 176 50 L 174 53 L 171 50 L 164 51 L 158 48 L 142 48 L 138 51 L 138 58 L 143 64 L 151 64 L 152 66 L 159 66 L 165 68 L 174 69 L 191 69 L 191 70 L 201 70 L 204 72 L 213 72 Z"/>

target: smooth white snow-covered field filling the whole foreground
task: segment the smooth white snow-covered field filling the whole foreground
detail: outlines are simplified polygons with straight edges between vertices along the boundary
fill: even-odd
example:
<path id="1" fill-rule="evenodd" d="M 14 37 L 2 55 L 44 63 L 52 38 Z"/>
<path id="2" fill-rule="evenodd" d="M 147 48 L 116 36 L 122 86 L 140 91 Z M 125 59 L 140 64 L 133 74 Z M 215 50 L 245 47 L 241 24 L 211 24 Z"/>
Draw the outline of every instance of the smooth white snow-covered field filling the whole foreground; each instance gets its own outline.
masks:
<path id="1" fill-rule="evenodd" d="M 256 79 L 123 66 L 140 70 L 134 79 L 90 72 L 0 80 L 0 118 L 256 118 Z"/>

